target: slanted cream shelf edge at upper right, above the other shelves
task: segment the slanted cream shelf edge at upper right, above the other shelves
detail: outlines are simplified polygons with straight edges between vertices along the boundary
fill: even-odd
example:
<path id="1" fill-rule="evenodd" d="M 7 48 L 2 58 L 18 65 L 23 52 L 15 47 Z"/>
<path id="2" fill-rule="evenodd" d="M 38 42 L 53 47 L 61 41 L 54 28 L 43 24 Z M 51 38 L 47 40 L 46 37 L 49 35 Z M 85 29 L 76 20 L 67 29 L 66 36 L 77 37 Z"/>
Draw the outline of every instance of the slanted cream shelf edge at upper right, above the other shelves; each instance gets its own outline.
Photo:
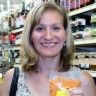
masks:
<path id="1" fill-rule="evenodd" d="M 68 13 L 68 16 L 74 16 L 74 15 L 77 15 L 77 14 L 80 14 L 80 13 L 83 13 L 83 12 L 91 11 L 91 10 L 93 10 L 93 9 L 96 9 L 96 3 L 91 4 L 91 5 L 87 5 L 87 6 L 85 6 L 85 7 L 76 9 L 76 10 L 74 10 L 74 11 L 70 11 L 70 12 Z"/>

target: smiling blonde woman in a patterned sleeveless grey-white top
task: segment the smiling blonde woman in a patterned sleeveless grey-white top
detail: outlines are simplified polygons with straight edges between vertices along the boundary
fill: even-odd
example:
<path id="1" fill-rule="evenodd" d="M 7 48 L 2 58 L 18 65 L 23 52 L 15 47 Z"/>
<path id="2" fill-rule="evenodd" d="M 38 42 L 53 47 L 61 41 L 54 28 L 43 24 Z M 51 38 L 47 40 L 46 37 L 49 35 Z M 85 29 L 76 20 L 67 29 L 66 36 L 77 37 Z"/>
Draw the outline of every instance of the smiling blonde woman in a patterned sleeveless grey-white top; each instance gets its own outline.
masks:
<path id="1" fill-rule="evenodd" d="M 50 96 L 52 72 L 63 72 L 65 77 L 81 81 L 80 87 L 69 89 L 70 96 L 96 96 L 92 77 L 78 68 L 71 68 L 73 51 L 66 10 L 50 2 L 34 7 L 22 33 L 23 65 L 19 69 L 16 96 Z M 11 69 L 5 75 L 2 96 L 9 96 L 13 72 Z"/>

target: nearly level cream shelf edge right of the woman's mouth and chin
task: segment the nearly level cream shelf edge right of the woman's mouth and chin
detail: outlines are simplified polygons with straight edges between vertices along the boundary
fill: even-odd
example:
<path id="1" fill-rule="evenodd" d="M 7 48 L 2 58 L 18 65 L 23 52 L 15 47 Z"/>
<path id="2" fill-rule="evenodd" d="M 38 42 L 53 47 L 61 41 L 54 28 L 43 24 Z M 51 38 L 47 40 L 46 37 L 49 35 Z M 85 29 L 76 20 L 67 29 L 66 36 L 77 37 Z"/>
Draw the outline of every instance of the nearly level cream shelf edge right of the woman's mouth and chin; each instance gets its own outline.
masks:
<path id="1" fill-rule="evenodd" d="M 90 45 L 90 44 L 96 44 L 96 37 L 74 40 L 74 45 Z"/>

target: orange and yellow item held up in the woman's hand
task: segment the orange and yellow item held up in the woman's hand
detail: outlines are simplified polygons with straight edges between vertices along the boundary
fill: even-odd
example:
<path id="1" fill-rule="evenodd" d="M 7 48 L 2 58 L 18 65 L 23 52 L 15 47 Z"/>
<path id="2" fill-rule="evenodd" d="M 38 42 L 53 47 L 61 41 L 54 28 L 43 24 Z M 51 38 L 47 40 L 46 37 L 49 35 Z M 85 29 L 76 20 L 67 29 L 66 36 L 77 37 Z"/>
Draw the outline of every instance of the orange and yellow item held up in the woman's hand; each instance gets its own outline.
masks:
<path id="1" fill-rule="evenodd" d="M 80 83 L 80 80 L 65 79 L 63 76 L 58 76 L 55 79 L 51 79 L 49 89 L 50 96 L 68 96 L 68 91 L 66 91 L 66 93 L 65 89 L 67 90 L 69 88 L 79 87 Z M 58 95 L 61 93 L 62 95 Z"/>

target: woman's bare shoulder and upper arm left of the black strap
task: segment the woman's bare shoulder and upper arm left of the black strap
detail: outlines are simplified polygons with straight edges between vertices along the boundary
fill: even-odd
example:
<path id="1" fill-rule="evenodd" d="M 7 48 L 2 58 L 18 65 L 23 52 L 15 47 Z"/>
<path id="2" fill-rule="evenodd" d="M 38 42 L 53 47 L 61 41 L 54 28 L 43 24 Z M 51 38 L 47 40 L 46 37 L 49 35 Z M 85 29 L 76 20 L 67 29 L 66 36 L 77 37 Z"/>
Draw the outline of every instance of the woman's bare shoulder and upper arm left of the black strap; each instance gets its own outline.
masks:
<path id="1" fill-rule="evenodd" d="M 14 68 L 8 70 L 4 75 L 3 83 L 2 83 L 2 96 L 9 96 L 11 81 L 14 73 Z"/>

